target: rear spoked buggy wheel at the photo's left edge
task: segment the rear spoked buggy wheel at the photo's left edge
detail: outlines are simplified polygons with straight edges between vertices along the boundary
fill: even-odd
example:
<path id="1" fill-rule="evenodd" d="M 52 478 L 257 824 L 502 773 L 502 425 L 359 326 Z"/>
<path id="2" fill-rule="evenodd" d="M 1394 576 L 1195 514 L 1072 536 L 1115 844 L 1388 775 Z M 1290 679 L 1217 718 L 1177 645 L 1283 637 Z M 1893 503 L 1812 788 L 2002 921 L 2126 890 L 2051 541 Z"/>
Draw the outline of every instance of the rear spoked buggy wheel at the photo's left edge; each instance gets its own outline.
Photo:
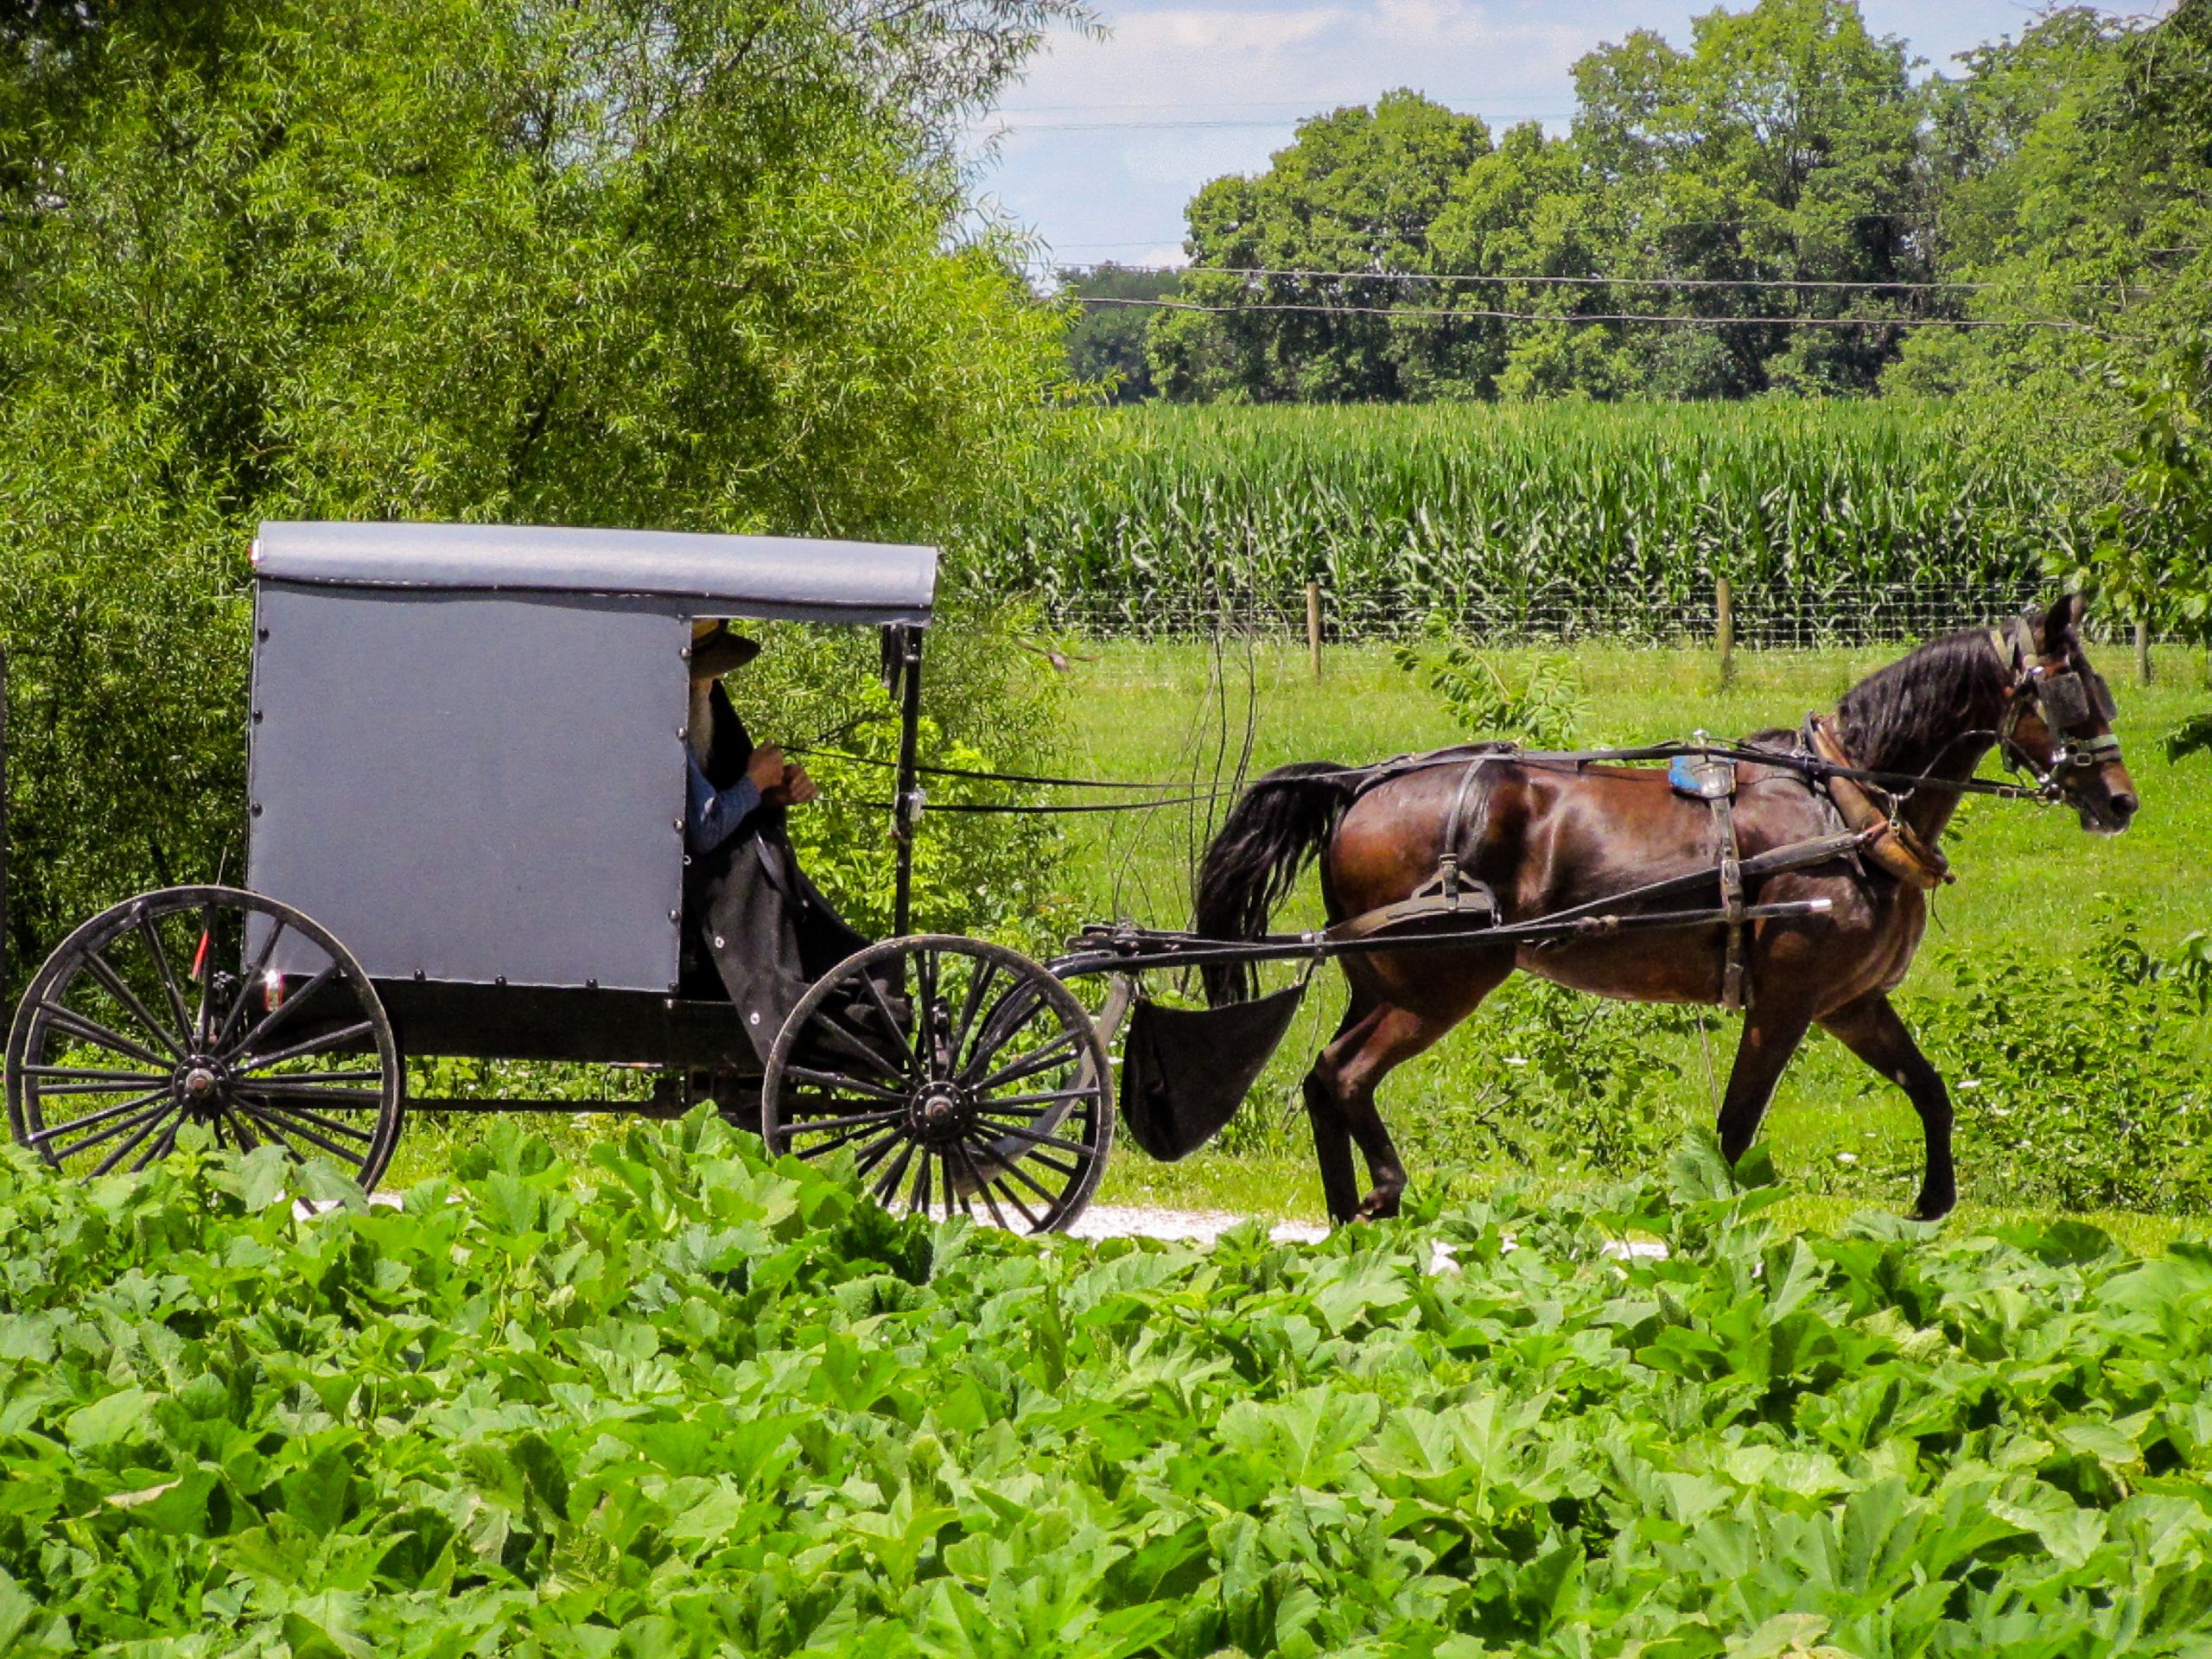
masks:
<path id="1" fill-rule="evenodd" d="M 372 1186 L 405 1071 L 354 956 L 290 905 L 164 887 L 46 958 L 7 1048 L 15 1141 L 64 1175 L 144 1170 L 186 1124 L 217 1146 L 327 1157 Z"/>

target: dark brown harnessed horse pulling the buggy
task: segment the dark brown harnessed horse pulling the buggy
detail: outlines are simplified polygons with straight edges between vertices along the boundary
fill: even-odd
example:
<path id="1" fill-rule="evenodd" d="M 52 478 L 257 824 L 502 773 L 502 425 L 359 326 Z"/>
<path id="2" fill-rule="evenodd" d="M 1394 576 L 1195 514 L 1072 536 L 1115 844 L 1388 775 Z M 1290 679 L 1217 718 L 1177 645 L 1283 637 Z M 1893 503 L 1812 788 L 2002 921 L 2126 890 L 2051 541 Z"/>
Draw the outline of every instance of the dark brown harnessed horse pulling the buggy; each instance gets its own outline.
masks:
<path id="1" fill-rule="evenodd" d="M 2079 597 L 2059 599 L 2008 633 L 1978 628 L 1920 646 L 1843 697 L 1836 726 L 1849 763 L 1927 781 L 1896 792 L 1898 816 L 1920 843 L 1936 847 L 1958 805 L 1958 792 L 1942 783 L 1971 779 L 1997 743 L 2008 763 L 2073 805 L 2084 830 L 2128 827 L 2135 785 L 2110 737 L 2104 681 L 2081 655 L 2079 624 Z M 1796 732 L 1759 732 L 1750 743 L 1790 752 Z M 1206 852 L 1197 931 L 1259 938 L 1270 909 L 1316 854 L 1332 922 L 1405 900 L 1436 876 L 1444 852 L 1491 887 L 1506 922 L 1717 865 L 1712 812 L 1670 790 L 1655 768 L 1506 754 L 1482 765 L 1471 783 L 1475 799 L 1458 805 L 1464 765 L 1371 779 L 1371 770 L 1307 763 L 1256 781 Z M 1460 847 L 1442 845 L 1447 823 L 1464 825 Z M 1741 763 L 1734 827 L 1741 854 L 1752 858 L 1834 834 L 1838 816 L 1827 790 L 1803 770 Z M 1767 876 L 1747 898 L 1827 898 L 1832 909 L 1752 925 L 1750 1009 L 1721 1102 L 1723 1152 L 1743 1157 L 1783 1066 L 1807 1026 L 1820 1024 L 1911 1097 L 1927 1135 L 1918 1214 L 1944 1214 L 1955 1201 L 1951 1097 L 1889 1004 L 1920 947 L 1924 891 L 1871 860 L 1834 858 Z M 1714 925 L 1340 958 L 1352 1004 L 1305 1075 L 1329 1214 L 1396 1214 L 1405 1168 L 1376 1113 L 1376 1086 L 1471 1015 L 1513 969 L 1630 1002 L 1719 1002 L 1723 938 Z M 1248 991 L 1248 971 L 1208 971 L 1214 1002 Z M 1365 1199 L 1354 1141 L 1374 1181 Z"/>

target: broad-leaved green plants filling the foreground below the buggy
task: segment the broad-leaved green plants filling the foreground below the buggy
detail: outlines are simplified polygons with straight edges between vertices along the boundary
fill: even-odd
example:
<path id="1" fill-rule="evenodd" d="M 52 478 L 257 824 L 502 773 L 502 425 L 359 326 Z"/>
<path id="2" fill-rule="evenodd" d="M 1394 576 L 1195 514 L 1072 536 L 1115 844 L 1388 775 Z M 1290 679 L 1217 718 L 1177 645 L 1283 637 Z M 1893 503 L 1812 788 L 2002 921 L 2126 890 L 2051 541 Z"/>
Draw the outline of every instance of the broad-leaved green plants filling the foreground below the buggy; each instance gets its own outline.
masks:
<path id="1" fill-rule="evenodd" d="M 0 1164 L 0 1646 L 2179 1655 L 2212 1615 L 2203 1245 L 1790 1239 L 1710 1141 L 1210 1252 L 891 1221 L 708 1115 L 580 1168 L 502 1124 L 398 1210 L 288 1183 Z"/>

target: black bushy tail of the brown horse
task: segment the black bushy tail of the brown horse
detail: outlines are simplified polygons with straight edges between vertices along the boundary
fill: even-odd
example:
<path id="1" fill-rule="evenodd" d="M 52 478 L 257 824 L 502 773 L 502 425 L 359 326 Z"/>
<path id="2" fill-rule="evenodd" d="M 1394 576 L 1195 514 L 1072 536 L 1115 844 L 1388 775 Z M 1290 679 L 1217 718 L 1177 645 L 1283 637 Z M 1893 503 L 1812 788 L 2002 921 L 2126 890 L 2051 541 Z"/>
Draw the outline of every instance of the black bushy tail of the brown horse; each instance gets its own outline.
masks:
<path id="1" fill-rule="evenodd" d="M 1197 933 L 1221 940 L 1265 933 L 1267 916 L 1329 845 L 1360 776 L 1334 761 L 1301 761 L 1245 790 L 1199 865 Z M 1212 962 L 1203 978 L 1214 1006 L 1243 1002 L 1259 984 L 1250 962 Z"/>

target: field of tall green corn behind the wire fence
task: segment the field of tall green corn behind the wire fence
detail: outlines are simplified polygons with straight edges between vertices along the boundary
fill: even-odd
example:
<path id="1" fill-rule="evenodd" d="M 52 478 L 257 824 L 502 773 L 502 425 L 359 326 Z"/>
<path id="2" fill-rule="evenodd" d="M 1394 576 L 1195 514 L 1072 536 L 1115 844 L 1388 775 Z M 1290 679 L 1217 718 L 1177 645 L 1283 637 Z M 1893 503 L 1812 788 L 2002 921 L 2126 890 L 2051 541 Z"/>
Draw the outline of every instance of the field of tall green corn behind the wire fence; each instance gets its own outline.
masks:
<path id="1" fill-rule="evenodd" d="M 1088 416 L 982 568 L 1075 633 L 1436 608 L 1478 635 L 1909 637 L 2039 591 L 2081 533 L 2024 460 L 1918 403 L 1168 407 Z"/>

